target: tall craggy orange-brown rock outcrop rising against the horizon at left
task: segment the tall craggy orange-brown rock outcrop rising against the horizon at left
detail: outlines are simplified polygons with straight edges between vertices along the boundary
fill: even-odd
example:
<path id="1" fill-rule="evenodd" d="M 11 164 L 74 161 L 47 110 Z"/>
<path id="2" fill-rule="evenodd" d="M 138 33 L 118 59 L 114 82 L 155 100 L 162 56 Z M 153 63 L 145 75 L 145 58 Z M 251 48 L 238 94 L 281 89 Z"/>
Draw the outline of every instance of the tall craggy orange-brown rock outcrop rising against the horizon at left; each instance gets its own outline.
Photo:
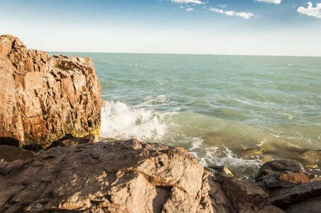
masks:
<path id="1" fill-rule="evenodd" d="M 101 86 L 90 58 L 52 58 L 2 35 L 0 99 L 0 144 L 45 148 L 67 134 L 99 135 Z"/>

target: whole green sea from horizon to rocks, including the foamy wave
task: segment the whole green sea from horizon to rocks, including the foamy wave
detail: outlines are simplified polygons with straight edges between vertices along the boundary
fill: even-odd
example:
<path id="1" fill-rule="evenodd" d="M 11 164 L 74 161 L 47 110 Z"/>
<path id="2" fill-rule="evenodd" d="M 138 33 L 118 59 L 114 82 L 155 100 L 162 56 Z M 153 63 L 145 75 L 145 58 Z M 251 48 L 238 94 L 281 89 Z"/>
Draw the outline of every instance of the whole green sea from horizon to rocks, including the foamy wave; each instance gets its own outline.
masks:
<path id="1" fill-rule="evenodd" d="M 100 141 L 183 146 L 243 180 L 276 159 L 321 175 L 321 58 L 64 54 L 94 62 L 105 102 Z"/>

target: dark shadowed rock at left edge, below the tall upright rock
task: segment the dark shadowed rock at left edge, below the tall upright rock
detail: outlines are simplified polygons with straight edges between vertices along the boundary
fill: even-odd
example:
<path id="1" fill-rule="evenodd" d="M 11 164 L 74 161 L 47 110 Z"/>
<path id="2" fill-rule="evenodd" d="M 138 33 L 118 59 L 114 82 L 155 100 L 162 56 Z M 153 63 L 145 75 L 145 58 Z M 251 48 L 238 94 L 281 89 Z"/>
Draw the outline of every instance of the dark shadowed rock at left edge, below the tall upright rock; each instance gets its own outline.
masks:
<path id="1" fill-rule="evenodd" d="M 0 160 L 12 162 L 14 160 L 29 160 L 36 154 L 16 146 L 0 145 Z"/>

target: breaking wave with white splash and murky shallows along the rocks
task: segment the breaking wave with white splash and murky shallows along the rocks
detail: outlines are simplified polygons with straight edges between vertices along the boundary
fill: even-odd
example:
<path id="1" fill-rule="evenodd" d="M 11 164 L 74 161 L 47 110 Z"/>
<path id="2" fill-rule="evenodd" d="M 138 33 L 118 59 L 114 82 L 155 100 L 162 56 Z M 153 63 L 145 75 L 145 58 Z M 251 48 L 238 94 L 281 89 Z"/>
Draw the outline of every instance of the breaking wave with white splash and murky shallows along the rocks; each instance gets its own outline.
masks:
<path id="1" fill-rule="evenodd" d="M 146 102 L 156 100 L 159 104 L 167 102 L 165 96 L 146 98 Z M 291 130 L 293 138 L 285 136 L 284 129 L 253 128 L 192 112 L 156 111 L 153 107 L 130 107 L 123 102 L 111 101 L 106 102 L 102 109 L 101 140 L 136 138 L 144 142 L 182 146 L 203 166 L 224 165 L 237 178 L 246 180 L 254 178 L 264 159 L 306 160 L 303 148 L 313 149 L 320 144 Z M 320 134 L 317 136 L 320 141 Z"/>

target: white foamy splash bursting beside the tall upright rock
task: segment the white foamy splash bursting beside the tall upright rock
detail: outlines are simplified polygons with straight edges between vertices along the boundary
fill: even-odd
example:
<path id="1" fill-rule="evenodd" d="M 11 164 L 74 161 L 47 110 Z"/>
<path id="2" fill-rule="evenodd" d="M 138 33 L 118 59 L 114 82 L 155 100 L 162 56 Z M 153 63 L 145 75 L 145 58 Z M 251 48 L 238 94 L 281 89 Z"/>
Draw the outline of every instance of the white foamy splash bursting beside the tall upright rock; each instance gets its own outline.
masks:
<path id="1" fill-rule="evenodd" d="M 159 141 L 167 132 L 166 113 L 152 109 L 131 109 L 121 102 L 106 102 L 102 109 L 102 138 Z"/>

